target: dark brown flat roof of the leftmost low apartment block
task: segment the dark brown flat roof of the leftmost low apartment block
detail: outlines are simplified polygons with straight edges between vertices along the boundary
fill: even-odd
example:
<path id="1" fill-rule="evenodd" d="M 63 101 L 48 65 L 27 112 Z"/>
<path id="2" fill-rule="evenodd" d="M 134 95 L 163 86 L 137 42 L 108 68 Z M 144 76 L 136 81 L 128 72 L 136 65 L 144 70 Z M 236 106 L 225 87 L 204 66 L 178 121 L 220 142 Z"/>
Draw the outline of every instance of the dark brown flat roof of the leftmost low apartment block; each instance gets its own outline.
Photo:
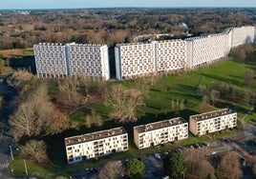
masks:
<path id="1" fill-rule="evenodd" d="M 89 141 L 95 141 L 95 140 L 103 139 L 103 138 L 107 138 L 107 137 L 113 137 L 113 136 L 117 136 L 117 135 L 124 134 L 124 133 L 127 133 L 127 132 L 122 127 L 116 128 L 116 129 L 105 129 L 105 130 L 101 130 L 101 131 L 96 131 L 96 132 L 92 132 L 92 133 L 76 135 L 73 137 L 65 138 L 65 145 L 66 145 L 66 147 L 72 146 L 75 144 L 81 144 L 81 143 L 85 143 L 85 142 L 89 142 Z"/>

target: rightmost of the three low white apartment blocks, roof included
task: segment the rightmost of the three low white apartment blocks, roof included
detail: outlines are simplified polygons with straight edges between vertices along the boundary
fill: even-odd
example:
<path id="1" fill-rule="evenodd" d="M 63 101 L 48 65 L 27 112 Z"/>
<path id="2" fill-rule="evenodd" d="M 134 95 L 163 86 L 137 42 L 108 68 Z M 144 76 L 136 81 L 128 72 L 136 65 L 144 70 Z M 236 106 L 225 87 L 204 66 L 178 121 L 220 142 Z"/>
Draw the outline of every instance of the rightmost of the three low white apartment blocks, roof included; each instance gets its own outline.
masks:
<path id="1" fill-rule="evenodd" d="M 237 126 L 237 112 L 219 109 L 189 117 L 189 130 L 194 135 L 203 135 Z"/>

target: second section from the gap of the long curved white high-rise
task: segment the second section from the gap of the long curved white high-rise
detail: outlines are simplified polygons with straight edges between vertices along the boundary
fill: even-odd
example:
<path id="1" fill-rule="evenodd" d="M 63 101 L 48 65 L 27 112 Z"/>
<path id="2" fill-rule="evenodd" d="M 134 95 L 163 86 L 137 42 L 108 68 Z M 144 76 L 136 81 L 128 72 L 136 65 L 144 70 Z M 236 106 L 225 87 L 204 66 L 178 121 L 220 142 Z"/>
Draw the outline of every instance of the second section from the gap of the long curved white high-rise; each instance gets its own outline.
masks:
<path id="1" fill-rule="evenodd" d="M 186 43 L 183 40 L 166 40 L 156 43 L 158 72 L 184 70 L 186 62 Z"/>

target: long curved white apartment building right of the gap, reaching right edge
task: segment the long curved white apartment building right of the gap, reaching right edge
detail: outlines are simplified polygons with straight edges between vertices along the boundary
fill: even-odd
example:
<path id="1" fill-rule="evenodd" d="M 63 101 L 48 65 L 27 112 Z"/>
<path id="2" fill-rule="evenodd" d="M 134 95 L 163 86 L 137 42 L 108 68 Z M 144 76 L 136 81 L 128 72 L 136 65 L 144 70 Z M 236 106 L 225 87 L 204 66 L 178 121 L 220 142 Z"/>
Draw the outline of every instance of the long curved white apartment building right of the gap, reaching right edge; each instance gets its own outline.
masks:
<path id="1" fill-rule="evenodd" d="M 115 50 L 117 79 L 123 80 L 147 75 L 149 73 L 147 70 L 137 69 L 143 65 L 152 66 L 151 73 L 199 68 L 226 57 L 233 47 L 254 42 L 255 27 L 246 26 L 229 28 L 222 33 L 203 34 L 184 40 L 117 44 Z M 135 50 L 135 47 L 138 46 L 140 49 Z M 143 53 L 144 50 L 147 52 Z M 140 63 L 137 65 L 135 61 L 141 58 L 144 61 L 150 59 L 152 64 L 149 64 L 149 61 L 146 64 L 139 61 Z"/>

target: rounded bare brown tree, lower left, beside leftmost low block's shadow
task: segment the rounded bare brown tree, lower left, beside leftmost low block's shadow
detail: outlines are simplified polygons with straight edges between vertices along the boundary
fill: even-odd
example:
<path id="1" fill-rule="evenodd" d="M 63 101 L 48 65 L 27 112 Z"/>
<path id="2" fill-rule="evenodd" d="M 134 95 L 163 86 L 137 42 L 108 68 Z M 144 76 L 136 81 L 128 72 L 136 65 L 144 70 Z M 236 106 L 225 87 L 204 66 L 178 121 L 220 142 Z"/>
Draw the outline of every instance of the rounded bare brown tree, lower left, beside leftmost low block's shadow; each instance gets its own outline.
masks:
<path id="1" fill-rule="evenodd" d="M 25 159 L 46 164 L 49 162 L 46 149 L 47 145 L 43 141 L 31 140 L 21 149 L 21 154 Z"/>

